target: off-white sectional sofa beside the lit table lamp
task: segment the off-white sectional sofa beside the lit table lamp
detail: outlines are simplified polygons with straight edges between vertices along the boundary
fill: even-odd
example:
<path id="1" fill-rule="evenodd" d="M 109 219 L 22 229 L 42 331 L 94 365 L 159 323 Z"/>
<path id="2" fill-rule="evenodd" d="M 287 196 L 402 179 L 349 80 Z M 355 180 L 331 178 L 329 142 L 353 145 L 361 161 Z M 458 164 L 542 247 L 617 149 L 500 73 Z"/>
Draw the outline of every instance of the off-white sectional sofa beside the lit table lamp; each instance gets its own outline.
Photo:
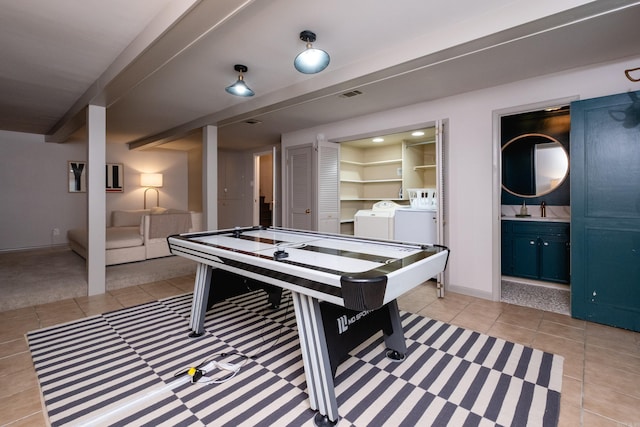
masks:
<path id="1" fill-rule="evenodd" d="M 167 236 L 201 231 L 202 213 L 153 208 L 111 212 L 106 229 L 106 265 L 144 261 L 171 255 Z M 87 258 L 87 230 L 67 232 L 69 247 Z"/>

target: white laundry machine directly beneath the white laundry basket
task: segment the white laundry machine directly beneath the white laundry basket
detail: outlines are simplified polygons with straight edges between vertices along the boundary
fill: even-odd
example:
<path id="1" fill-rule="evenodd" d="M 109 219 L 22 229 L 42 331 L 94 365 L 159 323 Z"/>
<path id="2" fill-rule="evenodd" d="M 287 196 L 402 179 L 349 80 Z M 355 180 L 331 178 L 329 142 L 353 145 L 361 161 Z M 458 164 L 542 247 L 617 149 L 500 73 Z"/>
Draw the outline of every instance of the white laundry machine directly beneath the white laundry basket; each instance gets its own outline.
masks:
<path id="1" fill-rule="evenodd" d="M 395 240 L 438 243 L 438 212 L 435 209 L 401 208 L 394 215 Z"/>

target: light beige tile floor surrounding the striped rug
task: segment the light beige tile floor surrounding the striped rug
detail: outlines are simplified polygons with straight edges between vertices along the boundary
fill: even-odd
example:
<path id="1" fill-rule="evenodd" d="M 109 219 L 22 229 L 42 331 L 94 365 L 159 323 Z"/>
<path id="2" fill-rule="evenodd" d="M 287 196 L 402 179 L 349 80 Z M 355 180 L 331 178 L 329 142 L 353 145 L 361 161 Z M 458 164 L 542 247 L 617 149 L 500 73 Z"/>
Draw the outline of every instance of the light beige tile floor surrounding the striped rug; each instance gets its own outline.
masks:
<path id="1" fill-rule="evenodd" d="M 190 292 L 193 280 L 0 312 L 0 426 L 46 425 L 25 333 Z M 560 426 L 640 426 L 640 333 L 451 292 L 438 299 L 430 283 L 399 303 L 405 311 L 564 356 Z"/>

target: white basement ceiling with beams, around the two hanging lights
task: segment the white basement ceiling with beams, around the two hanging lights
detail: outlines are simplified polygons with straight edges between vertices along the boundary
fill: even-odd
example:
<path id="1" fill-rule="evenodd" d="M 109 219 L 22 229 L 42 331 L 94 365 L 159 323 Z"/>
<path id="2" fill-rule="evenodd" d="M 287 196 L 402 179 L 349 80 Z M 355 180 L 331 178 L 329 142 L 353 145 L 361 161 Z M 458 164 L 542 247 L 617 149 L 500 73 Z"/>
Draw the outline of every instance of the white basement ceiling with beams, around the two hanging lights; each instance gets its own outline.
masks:
<path id="1" fill-rule="evenodd" d="M 221 147 L 254 148 L 284 132 L 635 57 L 638 22 L 640 2 L 621 0 L 0 0 L 0 129 L 64 142 L 82 134 L 92 103 L 107 107 L 108 142 L 197 142 L 212 124 Z M 316 75 L 293 68 L 305 29 L 331 55 Z M 224 91 L 238 63 L 252 98 Z M 339 96 L 353 89 L 362 95 Z"/>

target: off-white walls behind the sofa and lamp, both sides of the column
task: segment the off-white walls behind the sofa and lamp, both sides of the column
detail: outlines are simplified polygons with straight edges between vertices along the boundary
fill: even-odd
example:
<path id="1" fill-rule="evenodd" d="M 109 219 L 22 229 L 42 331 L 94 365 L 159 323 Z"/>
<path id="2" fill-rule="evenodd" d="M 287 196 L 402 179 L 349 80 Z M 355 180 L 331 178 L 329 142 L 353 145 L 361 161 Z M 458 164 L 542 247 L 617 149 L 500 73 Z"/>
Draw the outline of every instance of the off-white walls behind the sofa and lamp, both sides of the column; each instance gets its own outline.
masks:
<path id="1" fill-rule="evenodd" d="M 83 143 L 52 144 L 42 135 L 0 131 L 0 251 L 64 245 L 67 230 L 86 226 L 87 193 L 67 189 L 67 161 L 86 160 L 86 151 Z M 106 160 L 122 163 L 125 173 L 124 193 L 105 194 L 107 213 L 142 209 L 141 172 L 164 174 L 161 206 L 187 209 L 186 152 L 107 144 Z M 147 200 L 155 206 L 155 193 Z M 54 228 L 59 236 L 53 236 Z"/>

